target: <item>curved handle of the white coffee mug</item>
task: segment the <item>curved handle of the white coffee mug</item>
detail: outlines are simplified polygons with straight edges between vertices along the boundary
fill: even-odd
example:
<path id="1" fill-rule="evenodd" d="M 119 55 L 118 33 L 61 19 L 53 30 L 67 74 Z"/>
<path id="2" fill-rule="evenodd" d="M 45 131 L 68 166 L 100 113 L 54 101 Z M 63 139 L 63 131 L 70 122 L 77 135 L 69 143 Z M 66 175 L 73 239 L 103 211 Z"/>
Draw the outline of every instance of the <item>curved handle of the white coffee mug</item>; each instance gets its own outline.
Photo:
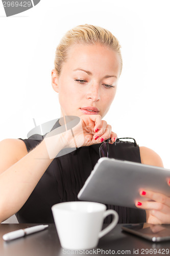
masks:
<path id="1" fill-rule="evenodd" d="M 106 210 L 104 212 L 103 219 L 105 219 L 110 214 L 113 215 L 114 218 L 113 218 L 112 222 L 106 228 L 104 228 L 102 231 L 100 231 L 99 238 L 102 238 L 103 236 L 105 236 L 105 234 L 107 234 L 109 231 L 111 231 L 118 222 L 118 214 L 114 210 Z"/>

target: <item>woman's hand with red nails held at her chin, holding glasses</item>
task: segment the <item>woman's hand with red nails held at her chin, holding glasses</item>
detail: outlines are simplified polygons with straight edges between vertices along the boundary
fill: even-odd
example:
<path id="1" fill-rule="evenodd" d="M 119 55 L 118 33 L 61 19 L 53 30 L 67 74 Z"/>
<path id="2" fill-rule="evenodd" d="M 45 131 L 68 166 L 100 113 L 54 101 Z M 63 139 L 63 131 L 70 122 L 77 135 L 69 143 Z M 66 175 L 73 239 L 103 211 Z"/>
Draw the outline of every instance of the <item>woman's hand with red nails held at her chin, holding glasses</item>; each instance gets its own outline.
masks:
<path id="1" fill-rule="evenodd" d="M 64 133 L 65 147 L 81 147 L 98 144 L 111 138 L 110 143 L 116 141 L 117 134 L 112 132 L 111 125 L 102 120 L 100 115 L 83 115 L 80 122 L 71 131 Z"/>

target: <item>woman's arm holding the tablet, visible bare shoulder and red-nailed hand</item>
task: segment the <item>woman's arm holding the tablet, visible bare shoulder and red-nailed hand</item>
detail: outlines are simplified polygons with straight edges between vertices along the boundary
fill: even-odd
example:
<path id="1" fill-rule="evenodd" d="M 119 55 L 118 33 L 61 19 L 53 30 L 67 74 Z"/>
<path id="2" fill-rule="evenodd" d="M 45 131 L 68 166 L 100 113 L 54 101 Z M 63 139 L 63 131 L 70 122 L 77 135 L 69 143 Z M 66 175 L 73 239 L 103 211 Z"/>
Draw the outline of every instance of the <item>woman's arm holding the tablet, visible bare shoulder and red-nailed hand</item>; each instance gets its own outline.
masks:
<path id="1" fill-rule="evenodd" d="M 139 147 L 141 163 L 163 167 L 160 156 L 147 147 Z M 154 177 L 153 177 L 154 179 Z M 168 185 L 169 180 L 167 181 Z M 159 184 L 158 184 L 159 185 Z M 170 188 L 169 188 L 170 190 Z M 170 198 L 165 195 L 154 193 L 150 190 L 140 191 L 140 196 L 147 197 L 152 201 L 136 202 L 136 207 L 145 209 L 147 222 L 152 224 L 170 224 Z"/>

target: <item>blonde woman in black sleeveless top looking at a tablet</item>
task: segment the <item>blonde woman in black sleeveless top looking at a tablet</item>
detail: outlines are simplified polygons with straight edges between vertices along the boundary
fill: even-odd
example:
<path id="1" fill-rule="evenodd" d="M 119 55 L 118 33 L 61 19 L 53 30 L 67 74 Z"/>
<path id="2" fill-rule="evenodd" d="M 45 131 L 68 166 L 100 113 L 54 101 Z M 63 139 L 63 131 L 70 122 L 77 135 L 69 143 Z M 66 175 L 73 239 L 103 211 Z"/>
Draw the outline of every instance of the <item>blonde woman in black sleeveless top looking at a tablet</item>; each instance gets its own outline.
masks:
<path id="1" fill-rule="evenodd" d="M 1 222 L 13 214 L 21 223 L 53 222 L 51 206 L 78 200 L 99 159 L 99 146 L 108 138 L 110 157 L 163 166 L 160 157 L 147 147 L 114 143 L 117 135 L 104 116 L 121 72 L 120 45 L 111 32 L 82 25 L 65 34 L 56 50 L 52 86 L 59 94 L 61 117 L 77 116 L 81 122 L 74 127 L 74 137 L 68 130 L 52 137 L 47 134 L 42 140 L 30 137 L 0 143 Z M 53 131 L 60 126 L 57 121 Z M 55 157 L 64 148 L 74 147 L 75 141 L 76 151 Z M 170 223 L 169 198 L 152 191 L 140 194 L 154 201 L 136 202 L 140 209 L 107 207 L 118 212 L 119 223 Z M 110 222 L 109 217 L 106 222 Z"/>

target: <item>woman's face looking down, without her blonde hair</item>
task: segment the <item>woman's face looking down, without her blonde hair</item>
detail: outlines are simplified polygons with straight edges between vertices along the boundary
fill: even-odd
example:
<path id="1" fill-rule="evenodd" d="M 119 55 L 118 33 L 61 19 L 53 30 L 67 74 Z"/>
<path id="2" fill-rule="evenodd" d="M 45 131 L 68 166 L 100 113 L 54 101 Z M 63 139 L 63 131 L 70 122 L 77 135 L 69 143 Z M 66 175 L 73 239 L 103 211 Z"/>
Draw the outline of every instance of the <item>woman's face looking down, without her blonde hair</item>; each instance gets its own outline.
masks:
<path id="1" fill-rule="evenodd" d="M 101 115 L 114 99 L 120 72 L 119 56 L 109 47 L 71 46 L 58 76 L 52 71 L 53 89 L 59 93 L 61 115 Z"/>

